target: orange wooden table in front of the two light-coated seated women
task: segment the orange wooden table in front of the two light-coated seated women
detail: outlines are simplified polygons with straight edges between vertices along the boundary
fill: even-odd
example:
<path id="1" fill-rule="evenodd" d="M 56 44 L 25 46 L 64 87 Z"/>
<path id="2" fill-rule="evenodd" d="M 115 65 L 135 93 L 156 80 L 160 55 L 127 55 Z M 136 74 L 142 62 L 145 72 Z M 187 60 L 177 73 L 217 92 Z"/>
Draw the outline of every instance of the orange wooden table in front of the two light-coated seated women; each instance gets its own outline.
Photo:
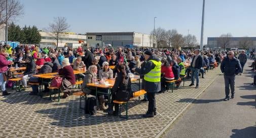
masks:
<path id="1" fill-rule="evenodd" d="M 115 84 L 115 78 L 112 79 L 106 79 L 105 82 L 107 81 L 108 84 L 104 85 L 104 84 L 99 84 L 98 82 L 95 83 L 87 83 L 87 86 L 92 86 L 96 88 L 96 101 L 97 101 L 97 93 L 102 94 L 102 95 L 107 95 L 108 97 L 108 103 L 111 102 L 110 96 L 111 96 L 111 88 L 114 86 Z M 139 80 L 139 86 L 140 86 L 140 77 L 139 75 L 135 75 L 134 77 L 131 77 L 131 81 L 135 81 L 135 80 Z M 97 88 L 107 88 L 107 93 L 104 93 L 102 91 L 97 91 Z M 140 89 L 140 87 L 139 87 Z M 96 106 L 97 106 L 97 102 L 96 102 Z"/>

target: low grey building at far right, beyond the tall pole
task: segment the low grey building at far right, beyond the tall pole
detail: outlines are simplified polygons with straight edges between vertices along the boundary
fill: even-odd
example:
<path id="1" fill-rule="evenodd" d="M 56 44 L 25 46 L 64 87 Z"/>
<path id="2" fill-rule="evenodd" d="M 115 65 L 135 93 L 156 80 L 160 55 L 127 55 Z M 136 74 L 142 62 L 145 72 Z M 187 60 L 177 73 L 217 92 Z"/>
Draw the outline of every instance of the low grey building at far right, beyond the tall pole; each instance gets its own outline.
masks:
<path id="1" fill-rule="evenodd" d="M 256 50 L 256 37 L 208 37 L 207 47 L 211 49 L 249 49 Z"/>

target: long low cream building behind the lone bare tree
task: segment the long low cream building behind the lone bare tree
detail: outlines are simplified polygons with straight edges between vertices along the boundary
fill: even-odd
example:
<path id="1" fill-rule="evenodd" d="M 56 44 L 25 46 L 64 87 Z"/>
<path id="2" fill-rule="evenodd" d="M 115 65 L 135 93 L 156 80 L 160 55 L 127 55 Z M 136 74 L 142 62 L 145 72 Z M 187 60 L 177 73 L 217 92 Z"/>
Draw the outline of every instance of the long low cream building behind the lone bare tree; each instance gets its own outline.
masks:
<path id="1" fill-rule="evenodd" d="M 44 47 L 56 47 L 57 40 L 54 37 L 54 34 L 50 32 L 39 32 L 41 34 L 41 41 L 40 41 L 40 48 Z M 86 35 L 80 35 L 76 33 L 64 33 L 59 37 L 58 40 L 58 48 L 64 47 L 64 45 L 67 45 L 71 48 L 77 48 L 81 45 L 79 41 L 83 41 L 83 43 L 86 43 Z"/>

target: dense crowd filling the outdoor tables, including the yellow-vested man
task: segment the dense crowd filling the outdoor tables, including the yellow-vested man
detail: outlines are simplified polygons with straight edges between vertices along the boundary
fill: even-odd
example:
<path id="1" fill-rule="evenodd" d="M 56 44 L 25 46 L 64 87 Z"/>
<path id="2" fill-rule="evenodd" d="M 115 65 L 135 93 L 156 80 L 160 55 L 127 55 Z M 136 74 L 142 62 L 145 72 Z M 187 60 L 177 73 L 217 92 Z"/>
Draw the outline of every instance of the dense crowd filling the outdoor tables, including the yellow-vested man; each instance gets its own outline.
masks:
<path id="1" fill-rule="evenodd" d="M 129 49 L 111 47 L 106 48 L 82 48 L 71 49 L 65 45 L 64 48 L 57 50 L 52 48 L 28 47 L 28 45 L 18 45 L 12 49 L 10 45 L 0 45 L 0 83 L 2 86 L 3 96 L 9 95 L 6 91 L 6 82 L 4 73 L 13 67 L 26 67 L 23 74 L 18 77 L 22 78 L 25 90 L 28 81 L 39 82 L 38 78 L 33 77 L 34 74 L 44 74 L 58 72 L 63 75 L 63 83 L 61 91 L 62 98 L 71 95 L 69 88 L 75 84 L 76 77 L 73 70 L 85 69 L 84 74 L 79 74 L 83 78 L 81 86 L 82 91 L 86 94 L 96 95 L 95 87 L 87 86 L 88 83 L 97 80 L 116 79 L 111 90 L 111 104 L 106 105 L 107 97 L 98 94 L 101 110 L 108 110 L 109 113 L 118 115 L 118 105 L 113 100 L 126 101 L 129 100 L 131 90 L 130 73 L 140 75 L 142 78 L 142 88 L 147 91 L 142 101 L 149 102 L 148 112 L 144 117 L 154 117 L 156 115 L 156 93 L 164 93 L 169 89 L 166 80 L 176 80 L 176 87 L 179 87 L 182 77 L 187 74 L 191 78 L 191 84 L 194 85 L 196 79 L 196 87 L 199 87 L 199 75 L 204 78 L 205 69 L 209 69 L 210 65 L 218 66 L 221 61 L 228 57 L 230 53 L 218 50 L 168 50 L 168 49 Z M 244 52 L 242 52 L 244 54 Z M 235 53 L 234 53 L 235 56 Z M 239 55 L 238 59 L 242 65 L 246 63 L 247 56 Z M 186 67 L 189 64 L 190 67 Z M 110 69 L 109 66 L 115 66 Z M 37 67 L 41 67 L 38 71 Z M 251 65 L 256 70 L 256 64 Z M 241 71 L 242 73 L 242 71 Z M 191 74 L 191 75 L 190 75 Z M 50 82 L 50 80 L 46 80 Z M 254 82 L 255 83 L 255 77 Z M 49 92 L 45 84 L 44 93 Z M 105 91 L 101 88 L 99 91 Z M 227 92 L 228 93 L 228 92 Z M 30 95 L 38 94 L 38 86 L 33 86 Z M 107 108 L 108 106 L 108 108 Z M 115 110 L 113 109 L 115 107 Z"/>

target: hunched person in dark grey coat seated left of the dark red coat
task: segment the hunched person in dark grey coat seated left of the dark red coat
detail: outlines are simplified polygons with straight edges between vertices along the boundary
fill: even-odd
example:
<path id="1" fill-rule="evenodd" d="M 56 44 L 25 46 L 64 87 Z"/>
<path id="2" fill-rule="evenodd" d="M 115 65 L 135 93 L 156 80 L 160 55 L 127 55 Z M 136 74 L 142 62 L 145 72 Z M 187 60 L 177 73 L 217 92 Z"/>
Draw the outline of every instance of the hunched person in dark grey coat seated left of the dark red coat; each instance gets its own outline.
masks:
<path id="1" fill-rule="evenodd" d="M 52 73 L 52 67 L 53 64 L 51 62 L 46 62 L 41 69 L 39 70 L 38 74 L 45 74 L 45 73 Z M 30 77 L 30 79 L 36 79 L 36 77 Z M 31 80 L 29 79 L 29 81 L 31 82 Z M 38 81 L 33 80 L 32 82 L 40 82 L 41 79 L 37 78 Z M 45 79 L 43 80 L 44 82 L 50 82 L 49 79 Z M 49 88 L 48 88 L 48 83 L 45 83 L 45 90 L 43 91 L 43 93 L 48 93 L 49 92 Z M 37 95 L 38 94 L 38 87 L 39 85 L 31 85 L 32 87 L 32 91 L 31 93 L 29 93 L 29 95 Z"/>

